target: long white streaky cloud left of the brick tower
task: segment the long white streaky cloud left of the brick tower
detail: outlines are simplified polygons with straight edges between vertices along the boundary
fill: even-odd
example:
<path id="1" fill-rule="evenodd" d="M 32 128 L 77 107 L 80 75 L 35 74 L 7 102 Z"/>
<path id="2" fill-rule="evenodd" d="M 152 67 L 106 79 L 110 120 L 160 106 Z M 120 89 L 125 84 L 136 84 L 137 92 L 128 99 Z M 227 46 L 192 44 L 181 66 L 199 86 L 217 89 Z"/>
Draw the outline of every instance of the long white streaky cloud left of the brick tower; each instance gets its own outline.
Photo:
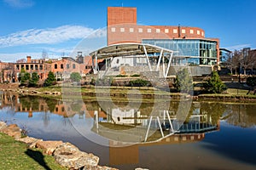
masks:
<path id="1" fill-rule="evenodd" d="M 94 30 L 84 26 L 60 26 L 47 29 L 30 29 L 0 37 L 0 48 L 28 44 L 53 44 L 88 37 Z M 96 35 L 96 36 L 102 36 Z"/>

